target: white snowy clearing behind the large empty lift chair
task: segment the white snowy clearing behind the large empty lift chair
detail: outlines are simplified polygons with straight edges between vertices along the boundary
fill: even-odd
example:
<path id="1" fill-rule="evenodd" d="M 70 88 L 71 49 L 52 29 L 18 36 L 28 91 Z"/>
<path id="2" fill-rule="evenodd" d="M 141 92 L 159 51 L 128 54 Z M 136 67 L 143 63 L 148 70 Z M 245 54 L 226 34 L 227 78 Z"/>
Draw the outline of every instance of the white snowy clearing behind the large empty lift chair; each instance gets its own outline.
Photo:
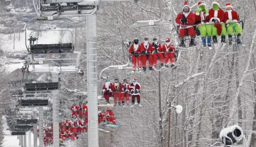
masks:
<path id="1" fill-rule="evenodd" d="M 59 30 L 59 28 L 55 29 Z M 72 30 L 70 30 L 72 31 Z M 0 34 L 2 48 L 6 52 L 17 52 L 17 51 L 27 51 L 25 40 L 27 41 L 27 45 L 29 44 L 28 38 L 31 30 L 27 30 L 27 38 L 25 38 L 25 31 L 15 34 L 15 41 L 13 40 L 14 34 Z M 33 32 L 33 37 L 37 37 L 38 35 Z M 42 31 L 38 36 L 37 44 L 55 44 L 59 43 L 60 40 L 62 43 L 71 43 L 71 33 L 69 31 L 65 31 L 63 37 L 60 31 Z M 74 40 L 75 42 L 75 40 Z M 14 44 L 14 49 L 13 49 Z M 36 42 L 35 42 L 36 44 Z"/>

